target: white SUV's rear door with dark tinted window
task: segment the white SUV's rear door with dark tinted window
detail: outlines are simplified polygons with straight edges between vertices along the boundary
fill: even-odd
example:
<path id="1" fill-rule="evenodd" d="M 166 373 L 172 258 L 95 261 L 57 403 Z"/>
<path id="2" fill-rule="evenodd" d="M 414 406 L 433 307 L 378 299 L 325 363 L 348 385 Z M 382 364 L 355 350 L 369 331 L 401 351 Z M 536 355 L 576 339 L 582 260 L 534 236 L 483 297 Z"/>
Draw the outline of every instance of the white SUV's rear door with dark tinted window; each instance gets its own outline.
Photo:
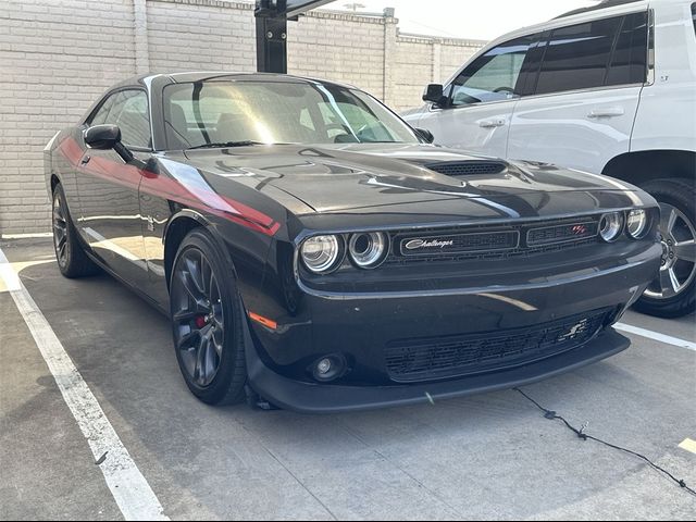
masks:
<path id="1" fill-rule="evenodd" d="M 630 149 L 647 54 L 646 11 L 552 29 L 533 96 L 514 108 L 508 158 L 601 173 Z"/>

